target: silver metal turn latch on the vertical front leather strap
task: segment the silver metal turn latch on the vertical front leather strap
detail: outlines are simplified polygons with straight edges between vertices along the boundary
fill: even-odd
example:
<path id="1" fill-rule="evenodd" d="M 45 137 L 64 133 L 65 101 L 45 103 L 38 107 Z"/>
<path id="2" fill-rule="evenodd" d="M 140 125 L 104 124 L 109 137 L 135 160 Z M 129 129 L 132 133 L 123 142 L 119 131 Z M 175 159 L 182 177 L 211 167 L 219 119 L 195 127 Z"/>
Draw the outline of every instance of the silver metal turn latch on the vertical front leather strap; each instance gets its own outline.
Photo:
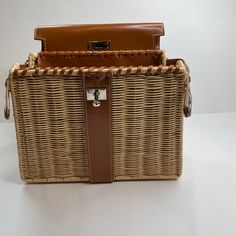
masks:
<path id="1" fill-rule="evenodd" d="M 94 107 L 99 107 L 101 101 L 107 100 L 107 91 L 105 88 L 91 88 L 86 90 L 87 101 L 93 101 Z"/>

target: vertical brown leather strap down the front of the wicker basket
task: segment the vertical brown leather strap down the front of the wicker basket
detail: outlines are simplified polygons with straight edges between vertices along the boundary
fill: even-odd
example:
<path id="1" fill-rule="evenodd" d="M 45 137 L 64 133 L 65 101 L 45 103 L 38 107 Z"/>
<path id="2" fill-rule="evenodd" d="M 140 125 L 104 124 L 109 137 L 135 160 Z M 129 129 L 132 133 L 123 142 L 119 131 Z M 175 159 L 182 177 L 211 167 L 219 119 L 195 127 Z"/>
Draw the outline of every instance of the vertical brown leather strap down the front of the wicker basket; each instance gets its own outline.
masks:
<path id="1" fill-rule="evenodd" d="M 112 182 L 111 77 L 85 74 L 83 86 L 90 181 Z M 94 106 L 93 101 L 87 101 L 88 89 L 106 89 L 106 100 Z"/>

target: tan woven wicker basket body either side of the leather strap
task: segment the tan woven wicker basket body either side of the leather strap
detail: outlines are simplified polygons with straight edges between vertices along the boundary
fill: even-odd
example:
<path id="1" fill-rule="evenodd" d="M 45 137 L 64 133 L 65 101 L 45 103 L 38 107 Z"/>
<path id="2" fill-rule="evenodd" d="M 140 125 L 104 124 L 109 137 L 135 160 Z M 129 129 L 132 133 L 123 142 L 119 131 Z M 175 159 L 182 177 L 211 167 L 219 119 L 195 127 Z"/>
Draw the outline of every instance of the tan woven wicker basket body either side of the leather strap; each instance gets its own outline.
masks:
<path id="1" fill-rule="evenodd" d="M 113 179 L 181 175 L 183 110 L 189 102 L 182 60 L 110 68 L 39 68 L 34 61 L 31 54 L 28 66 L 15 64 L 6 82 L 24 181 L 89 181 L 82 89 L 87 73 L 111 76 Z"/>

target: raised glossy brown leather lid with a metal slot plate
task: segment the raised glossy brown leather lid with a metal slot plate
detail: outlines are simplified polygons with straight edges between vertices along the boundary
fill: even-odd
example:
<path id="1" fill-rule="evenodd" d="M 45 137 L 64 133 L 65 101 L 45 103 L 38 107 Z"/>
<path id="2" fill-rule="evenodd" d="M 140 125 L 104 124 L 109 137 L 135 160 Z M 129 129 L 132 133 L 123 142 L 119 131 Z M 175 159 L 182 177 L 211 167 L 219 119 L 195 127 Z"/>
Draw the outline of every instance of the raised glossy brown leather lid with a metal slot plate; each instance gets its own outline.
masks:
<path id="1" fill-rule="evenodd" d="M 42 51 L 159 49 L 163 23 L 78 24 L 35 29 Z"/>

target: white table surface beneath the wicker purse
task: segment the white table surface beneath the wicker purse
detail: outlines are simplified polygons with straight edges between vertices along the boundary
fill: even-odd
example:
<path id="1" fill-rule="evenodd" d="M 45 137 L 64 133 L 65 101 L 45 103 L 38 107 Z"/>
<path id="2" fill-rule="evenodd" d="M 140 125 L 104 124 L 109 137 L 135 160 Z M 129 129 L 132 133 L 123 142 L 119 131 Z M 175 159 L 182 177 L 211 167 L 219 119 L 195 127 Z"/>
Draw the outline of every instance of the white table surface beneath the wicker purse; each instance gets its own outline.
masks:
<path id="1" fill-rule="evenodd" d="M 178 181 L 24 184 L 0 124 L 0 236 L 235 236 L 236 113 L 185 120 Z"/>

